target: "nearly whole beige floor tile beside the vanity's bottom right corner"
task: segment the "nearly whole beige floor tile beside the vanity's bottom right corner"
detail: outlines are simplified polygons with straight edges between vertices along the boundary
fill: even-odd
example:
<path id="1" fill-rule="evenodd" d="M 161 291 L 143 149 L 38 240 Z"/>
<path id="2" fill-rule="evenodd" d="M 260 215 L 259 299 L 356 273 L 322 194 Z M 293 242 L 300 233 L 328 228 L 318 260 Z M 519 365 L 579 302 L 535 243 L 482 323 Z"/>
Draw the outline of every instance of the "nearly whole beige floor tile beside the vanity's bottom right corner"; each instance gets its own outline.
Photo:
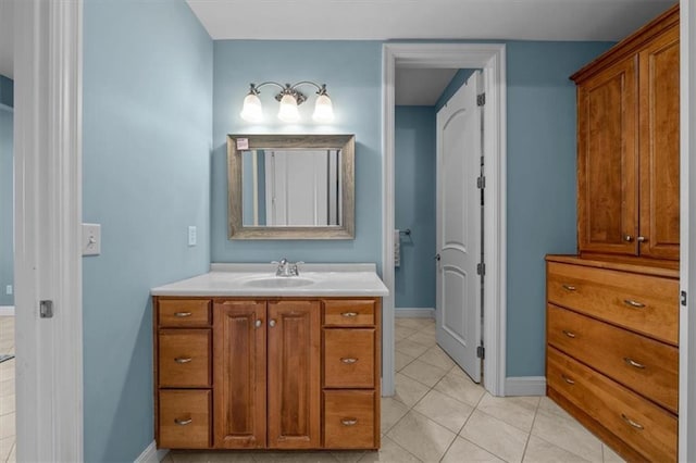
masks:
<path id="1" fill-rule="evenodd" d="M 409 412 L 387 436 L 419 459 L 437 462 L 457 435 L 420 413 Z"/>

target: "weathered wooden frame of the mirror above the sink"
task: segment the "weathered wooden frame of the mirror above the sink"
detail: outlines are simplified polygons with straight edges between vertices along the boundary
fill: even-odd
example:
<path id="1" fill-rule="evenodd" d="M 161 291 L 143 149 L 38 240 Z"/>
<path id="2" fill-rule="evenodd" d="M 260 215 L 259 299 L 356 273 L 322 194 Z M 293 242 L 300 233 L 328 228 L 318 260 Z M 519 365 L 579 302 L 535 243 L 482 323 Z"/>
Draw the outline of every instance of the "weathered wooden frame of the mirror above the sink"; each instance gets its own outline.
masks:
<path id="1" fill-rule="evenodd" d="M 238 139 L 246 139 L 248 147 L 237 149 Z M 343 195 L 340 225 L 258 227 L 243 224 L 241 153 L 254 149 L 273 148 L 340 150 Z M 227 135 L 227 239 L 353 239 L 356 236 L 355 155 L 355 135 Z"/>

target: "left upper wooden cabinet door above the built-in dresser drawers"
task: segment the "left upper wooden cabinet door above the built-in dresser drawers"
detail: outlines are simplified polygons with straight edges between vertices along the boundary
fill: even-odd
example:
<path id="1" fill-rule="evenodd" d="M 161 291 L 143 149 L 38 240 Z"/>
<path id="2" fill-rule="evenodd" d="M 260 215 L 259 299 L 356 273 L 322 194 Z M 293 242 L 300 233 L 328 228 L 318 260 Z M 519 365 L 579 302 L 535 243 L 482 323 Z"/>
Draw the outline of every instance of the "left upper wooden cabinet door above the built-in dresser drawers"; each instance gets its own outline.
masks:
<path id="1" fill-rule="evenodd" d="M 577 87 L 581 253 L 637 253 L 636 59 L 621 61 Z"/>

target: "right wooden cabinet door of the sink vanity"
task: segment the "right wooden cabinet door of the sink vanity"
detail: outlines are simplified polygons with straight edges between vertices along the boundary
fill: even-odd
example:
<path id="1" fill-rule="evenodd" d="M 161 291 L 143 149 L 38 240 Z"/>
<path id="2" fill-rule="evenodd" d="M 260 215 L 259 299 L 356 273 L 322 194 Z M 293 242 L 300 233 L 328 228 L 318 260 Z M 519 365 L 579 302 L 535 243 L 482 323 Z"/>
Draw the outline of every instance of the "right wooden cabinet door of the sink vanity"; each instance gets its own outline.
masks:
<path id="1" fill-rule="evenodd" d="M 269 302 L 269 447 L 320 448 L 319 301 Z"/>

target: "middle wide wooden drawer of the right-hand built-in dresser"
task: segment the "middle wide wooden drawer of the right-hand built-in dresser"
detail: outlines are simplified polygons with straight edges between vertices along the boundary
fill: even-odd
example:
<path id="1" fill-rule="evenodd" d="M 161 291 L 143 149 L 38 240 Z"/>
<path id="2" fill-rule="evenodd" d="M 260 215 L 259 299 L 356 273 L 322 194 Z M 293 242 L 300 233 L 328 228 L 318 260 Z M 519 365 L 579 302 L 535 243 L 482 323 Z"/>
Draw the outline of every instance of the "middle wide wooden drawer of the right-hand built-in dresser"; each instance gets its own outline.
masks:
<path id="1" fill-rule="evenodd" d="M 678 412 L 679 349 L 549 304 L 548 342 Z"/>

